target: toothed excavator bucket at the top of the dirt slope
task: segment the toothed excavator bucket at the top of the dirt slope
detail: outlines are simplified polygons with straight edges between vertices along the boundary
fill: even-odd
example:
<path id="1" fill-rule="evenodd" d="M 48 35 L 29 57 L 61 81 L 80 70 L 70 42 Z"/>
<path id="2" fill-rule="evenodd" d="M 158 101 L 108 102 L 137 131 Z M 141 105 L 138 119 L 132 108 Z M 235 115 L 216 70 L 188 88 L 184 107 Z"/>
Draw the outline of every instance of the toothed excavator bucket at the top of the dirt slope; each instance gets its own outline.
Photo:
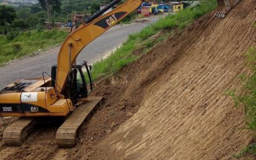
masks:
<path id="1" fill-rule="evenodd" d="M 239 1 L 240 0 L 217 0 L 218 9 L 215 13 L 215 17 L 225 18 L 228 12 L 233 9 Z"/>

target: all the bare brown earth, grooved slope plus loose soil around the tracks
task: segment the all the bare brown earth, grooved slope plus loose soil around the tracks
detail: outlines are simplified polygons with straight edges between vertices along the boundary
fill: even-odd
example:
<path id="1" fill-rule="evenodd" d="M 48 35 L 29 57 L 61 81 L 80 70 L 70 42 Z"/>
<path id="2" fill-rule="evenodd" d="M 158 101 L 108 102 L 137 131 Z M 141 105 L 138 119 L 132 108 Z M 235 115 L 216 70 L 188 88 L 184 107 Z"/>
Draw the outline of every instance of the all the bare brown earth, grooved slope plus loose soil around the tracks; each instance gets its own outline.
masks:
<path id="1" fill-rule="evenodd" d="M 213 12 L 199 18 L 97 84 L 93 94 L 104 96 L 105 105 L 84 122 L 75 148 L 55 145 L 58 125 L 52 124 L 35 130 L 21 147 L 1 142 L 1 158 L 232 158 L 251 137 L 241 129 L 242 109 L 234 108 L 225 90 L 241 87 L 236 76 L 247 71 L 244 53 L 256 45 L 255 18 L 252 0 L 224 19 Z"/>

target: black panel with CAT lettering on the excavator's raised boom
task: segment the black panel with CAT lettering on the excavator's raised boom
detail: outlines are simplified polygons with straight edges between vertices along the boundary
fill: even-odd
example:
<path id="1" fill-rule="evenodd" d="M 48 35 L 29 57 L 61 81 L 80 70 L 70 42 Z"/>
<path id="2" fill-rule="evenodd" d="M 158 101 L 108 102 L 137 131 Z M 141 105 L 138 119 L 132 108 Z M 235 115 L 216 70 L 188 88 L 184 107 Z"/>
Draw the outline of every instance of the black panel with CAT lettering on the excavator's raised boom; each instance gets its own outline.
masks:
<path id="1" fill-rule="evenodd" d="M 121 20 L 125 15 L 128 14 L 128 12 L 117 12 L 115 14 L 109 15 L 105 18 L 102 18 L 98 22 L 94 23 L 94 25 L 99 26 L 103 29 L 107 29 L 110 26 L 117 23 L 119 20 Z"/>

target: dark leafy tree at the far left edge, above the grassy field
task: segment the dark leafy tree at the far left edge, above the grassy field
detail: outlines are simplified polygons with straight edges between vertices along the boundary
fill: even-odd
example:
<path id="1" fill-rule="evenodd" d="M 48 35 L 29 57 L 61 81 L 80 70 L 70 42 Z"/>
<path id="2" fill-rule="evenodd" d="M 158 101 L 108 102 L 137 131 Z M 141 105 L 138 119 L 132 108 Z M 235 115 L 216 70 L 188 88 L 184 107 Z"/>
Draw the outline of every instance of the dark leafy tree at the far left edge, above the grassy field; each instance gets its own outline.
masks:
<path id="1" fill-rule="evenodd" d="M 7 34 L 7 25 L 14 21 L 16 17 L 15 10 L 10 6 L 0 5 L 0 28 L 1 33 Z"/>

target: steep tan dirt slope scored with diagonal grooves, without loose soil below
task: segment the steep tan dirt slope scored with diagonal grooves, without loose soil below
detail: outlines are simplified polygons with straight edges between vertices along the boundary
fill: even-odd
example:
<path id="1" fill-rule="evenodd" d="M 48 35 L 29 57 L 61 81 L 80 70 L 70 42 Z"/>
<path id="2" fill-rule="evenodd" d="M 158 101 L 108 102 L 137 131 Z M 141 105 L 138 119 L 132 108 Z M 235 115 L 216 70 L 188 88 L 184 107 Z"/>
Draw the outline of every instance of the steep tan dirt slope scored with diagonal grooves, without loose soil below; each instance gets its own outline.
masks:
<path id="1" fill-rule="evenodd" d="M 235 77 L 255 45 L 255 6 L 242 1 L 223 20 L 206 15 L 128 66 L 120 97 L 139 89 L 139 110 L 88 158 L 226 159 L 244 148 L 242 110 L 224 92 L 241 85 Z"/>

